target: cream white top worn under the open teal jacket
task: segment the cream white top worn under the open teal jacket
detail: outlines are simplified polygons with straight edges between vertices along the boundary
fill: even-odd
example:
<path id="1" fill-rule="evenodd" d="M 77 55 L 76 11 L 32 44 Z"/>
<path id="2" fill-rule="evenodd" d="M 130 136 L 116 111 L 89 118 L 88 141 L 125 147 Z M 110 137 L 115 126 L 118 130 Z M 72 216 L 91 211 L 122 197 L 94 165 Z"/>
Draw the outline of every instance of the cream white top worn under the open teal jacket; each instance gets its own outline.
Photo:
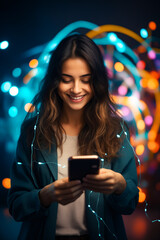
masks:
<path id="1" fill-rule="evenodd" d="M 67 136 L 61 156 L 58 148 L 58 179 L 68 177 L 68 158 L 77 155 L 78 136 Z M 58 204 L 56 235 L 83 235 L 87 233 L 85 222 L 85 194 L 65 206 Z"/>

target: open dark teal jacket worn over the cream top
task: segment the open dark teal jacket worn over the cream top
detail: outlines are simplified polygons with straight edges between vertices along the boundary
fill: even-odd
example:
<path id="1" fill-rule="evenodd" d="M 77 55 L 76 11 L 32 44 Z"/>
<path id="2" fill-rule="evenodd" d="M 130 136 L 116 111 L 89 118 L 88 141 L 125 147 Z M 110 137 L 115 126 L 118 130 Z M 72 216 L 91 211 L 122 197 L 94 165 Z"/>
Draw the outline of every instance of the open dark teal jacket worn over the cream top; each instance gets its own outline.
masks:
<path id="1" fill-rule="evenodd" d="M 11 169 L 9 211 L 16 221 L 22 222 L 18 239 L 54 240 L 58 204 L 54 202 L 50 207 L 44 208 L 40 204 L 38 193 L 44 186 L 57 180 L 57 148 L 53 145 L 49 152 L 34 147 L 31 169 L 31 142 L 28 144 L 27 140 L 29 129 L 26 125 L 21 131 Z M 104 168 L 121 173 L 127 186 L 120 195 L 86 191 L 86 222 L 90 239 L 125 240 L 127 237 L 121 215 L 131 214 L 135 210 L 139 192 L 135 157 L 127 137 L 124 138 L 118 156 L 111 164 L 105 163 Z"/>

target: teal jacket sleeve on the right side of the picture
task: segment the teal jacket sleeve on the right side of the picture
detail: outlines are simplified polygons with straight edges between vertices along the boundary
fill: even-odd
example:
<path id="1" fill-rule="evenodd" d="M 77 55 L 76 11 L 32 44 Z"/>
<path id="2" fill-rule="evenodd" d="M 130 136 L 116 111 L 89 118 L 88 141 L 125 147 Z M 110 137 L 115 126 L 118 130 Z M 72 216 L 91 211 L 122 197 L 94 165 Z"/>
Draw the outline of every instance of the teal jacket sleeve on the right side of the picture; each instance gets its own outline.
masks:
<path id="1" fill-rule="evenodd" d="M 126 188 L 120 194 L 105 196 L 111 208 L 120 214 L 131 214 L 138 203 L 139 190 L 137 188 L 137 171 L 134 150 L 129 142 L 129 133 L 126 132 L 118 156 L 112 163 L 112 170 L 119 172 L 126 180 Z"/>

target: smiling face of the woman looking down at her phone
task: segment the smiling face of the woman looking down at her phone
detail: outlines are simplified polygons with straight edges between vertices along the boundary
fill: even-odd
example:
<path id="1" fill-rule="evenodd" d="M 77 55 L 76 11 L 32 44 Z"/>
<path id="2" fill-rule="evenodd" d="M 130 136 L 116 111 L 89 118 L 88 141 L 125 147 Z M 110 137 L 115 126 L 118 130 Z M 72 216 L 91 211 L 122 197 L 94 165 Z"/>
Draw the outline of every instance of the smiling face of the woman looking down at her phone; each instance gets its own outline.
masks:
<path id="1" fill-rule="evenodd" d="M 69 58 L 62 65 L 58 94 L 65 110 L 82 110 L 93 97 L 91 70 L 82 58 Z"/>

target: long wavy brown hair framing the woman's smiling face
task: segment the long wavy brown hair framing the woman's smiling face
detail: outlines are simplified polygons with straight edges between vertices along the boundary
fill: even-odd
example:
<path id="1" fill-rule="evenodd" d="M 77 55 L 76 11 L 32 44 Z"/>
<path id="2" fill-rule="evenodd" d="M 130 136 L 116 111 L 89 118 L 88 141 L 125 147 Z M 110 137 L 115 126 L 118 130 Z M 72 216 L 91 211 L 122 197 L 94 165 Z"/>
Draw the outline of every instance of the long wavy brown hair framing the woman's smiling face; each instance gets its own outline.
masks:
<path id="1" fill-rule="evenodd" d="M 121 145 L 117 134 L 121 132 L 122 119 L 109 94 L 108 76 L 100 49 L 93 40 L 81 34 L 64 38 L 52 53 L 41 90 L 33 101 L 34 106 L 41 103 L 36 143 L 40 148 L 49 149 L 52 144 L 56 144 L 63 150 L 63 102 L 57 88 L 61 81 L 62 64 L 75 57 L 83 58 L 88 63 L 94 92 L 93 98 L 84 109 L 84 125 L 78 136 L 79 154 L 97 153 L 110 160 L 116 156 Z"/>

